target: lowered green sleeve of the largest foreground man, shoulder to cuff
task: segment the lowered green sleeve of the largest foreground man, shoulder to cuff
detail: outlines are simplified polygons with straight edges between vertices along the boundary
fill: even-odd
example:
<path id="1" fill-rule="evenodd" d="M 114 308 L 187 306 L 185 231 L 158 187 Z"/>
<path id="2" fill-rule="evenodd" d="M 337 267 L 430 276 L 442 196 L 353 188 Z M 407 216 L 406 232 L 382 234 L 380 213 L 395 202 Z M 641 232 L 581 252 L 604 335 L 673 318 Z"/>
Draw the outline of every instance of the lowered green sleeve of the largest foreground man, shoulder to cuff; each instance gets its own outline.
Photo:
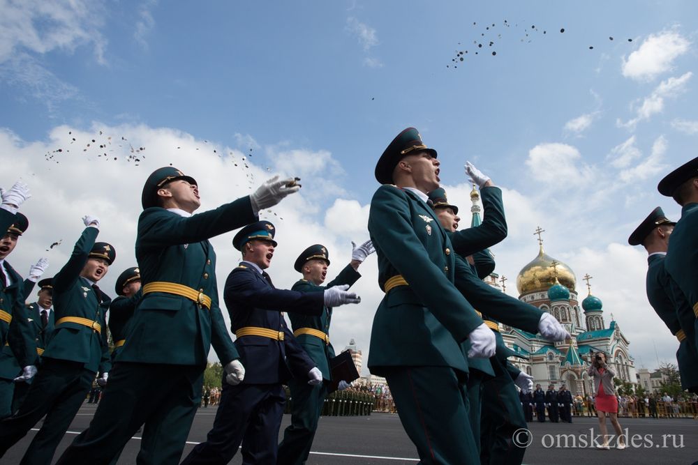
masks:
<path id="1" fill-rule="evenodd" d="M 482 319 L 453 283 L 431 261 L 410 217 L 406 194 L 397 188 L 378 188 L 371 201 L 369 232 L 379 255 L 410 283 L 410 289 L 453 335 L 466 340 Z M 436 227 L 439 227 L 436 225 Z"/>

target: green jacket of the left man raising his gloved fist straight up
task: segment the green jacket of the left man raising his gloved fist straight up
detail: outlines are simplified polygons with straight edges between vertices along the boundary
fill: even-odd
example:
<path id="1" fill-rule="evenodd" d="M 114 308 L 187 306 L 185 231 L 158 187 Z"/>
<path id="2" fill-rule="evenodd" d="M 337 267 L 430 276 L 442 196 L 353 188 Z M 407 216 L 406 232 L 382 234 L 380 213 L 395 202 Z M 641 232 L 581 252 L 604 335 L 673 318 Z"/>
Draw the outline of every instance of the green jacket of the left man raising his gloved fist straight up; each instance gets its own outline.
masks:
<path id="1" fill-rule="evenodd" d="M 89 281 L 80 276 L 98 234 L 94 227 L 82 231 L 68 263 L 53 278 L 53 305 L 55 321 L 80 317 L 99 323 L 101 332 L 80 323 L 59 323 L 42 357 L 84 363 L 91 372 L 103 373 L 112 366 L 105 319 L 111 299 L 101 290 L 98 296 Z"/>

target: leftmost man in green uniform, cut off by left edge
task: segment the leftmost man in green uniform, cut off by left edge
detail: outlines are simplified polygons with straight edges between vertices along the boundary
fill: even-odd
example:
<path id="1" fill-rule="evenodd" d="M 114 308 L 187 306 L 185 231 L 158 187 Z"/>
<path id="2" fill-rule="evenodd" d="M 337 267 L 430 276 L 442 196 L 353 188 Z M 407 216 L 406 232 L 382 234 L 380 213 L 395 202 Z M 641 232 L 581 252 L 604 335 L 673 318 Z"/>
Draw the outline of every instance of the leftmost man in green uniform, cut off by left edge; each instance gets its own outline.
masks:
<path id="1" fill-rule="evenodd" d="M 37 356 L 24 305 L 24 282 L 6 261 L 18 238 L 27 231 L 29 221 L 19 212 L 12 214 L 3 208 L 2 213 L 3 220 L 12 220 L 11 224 L 4 223 L 6 233 L 0 238 L 0 418 L 7 418 L 13 413 L 15 384 L 24 384 L 22 381 L 36 374 Z"/>

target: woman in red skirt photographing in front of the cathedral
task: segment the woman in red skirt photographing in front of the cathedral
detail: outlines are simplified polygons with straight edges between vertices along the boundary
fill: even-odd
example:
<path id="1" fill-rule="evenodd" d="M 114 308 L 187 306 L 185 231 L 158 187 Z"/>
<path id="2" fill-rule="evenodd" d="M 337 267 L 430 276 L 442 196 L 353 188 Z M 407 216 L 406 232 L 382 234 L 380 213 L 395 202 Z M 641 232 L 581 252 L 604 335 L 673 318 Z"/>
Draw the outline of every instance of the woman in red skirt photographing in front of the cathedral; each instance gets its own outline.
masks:
<path id="1" fill-rule="evenodd" d="M 616 447 L 625 449 L 625 440 L 623 437 L 623 429 L 618 422 L 618 398 L 616 397 L 616 389 L 613 386 L 613 378 L 616 376 L 606 364 L 606 354 L 597 352 L 594 361 L 589 367 L 589 376 L 594 379 L 594 388 L 596 391 L 596 414 L 599 418 L 599 429 L 603 436 L 603 443 L 596 447 L 600 449 L 609 449 L 608 430 L 606 429 L 606 415 L 611 419 L 611 425 L 616 430 Z"/>

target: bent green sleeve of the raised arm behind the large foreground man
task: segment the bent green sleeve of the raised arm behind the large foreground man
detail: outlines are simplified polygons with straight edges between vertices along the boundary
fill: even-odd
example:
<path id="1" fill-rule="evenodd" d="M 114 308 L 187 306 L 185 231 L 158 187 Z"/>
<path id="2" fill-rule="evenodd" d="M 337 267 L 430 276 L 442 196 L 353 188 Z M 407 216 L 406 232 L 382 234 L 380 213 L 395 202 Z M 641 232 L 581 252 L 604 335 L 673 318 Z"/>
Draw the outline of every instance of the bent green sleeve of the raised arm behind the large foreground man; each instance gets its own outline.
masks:
<path id="1" fill-rule="evenodd" d="M 484 209 L 482 224 L 456 231 L 452 238 L 454 250 L 463 257 L 492 247 L 507 237 L 502 190 L 494 186 L 482 188 L 480 195 Z"/>

